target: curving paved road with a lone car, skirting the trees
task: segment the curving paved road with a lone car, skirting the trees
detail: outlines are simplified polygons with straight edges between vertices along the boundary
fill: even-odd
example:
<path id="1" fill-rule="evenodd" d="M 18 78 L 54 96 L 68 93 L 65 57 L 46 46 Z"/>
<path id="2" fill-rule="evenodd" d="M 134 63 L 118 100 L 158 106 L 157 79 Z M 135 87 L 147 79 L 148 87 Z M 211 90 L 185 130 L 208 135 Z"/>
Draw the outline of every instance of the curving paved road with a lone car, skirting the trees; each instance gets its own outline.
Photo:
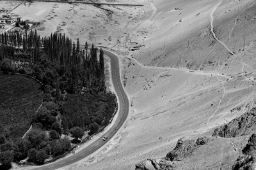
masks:
<path id="1" fill-rule="evenodd" d="M 119 106 L 118 106 L 119 114 L 118 114 L 118 117 L 116 118 L 115 123 L 105 134 L 100 136 L 99 139 L 97 139 L 91 145 L 88 145 L 86 148 L 84 148 L 80 152 L 77 152 L 74 155 L 71 155 L 70 157 L 67 157 L 65 159 L 61 159 L 61 160 L 57 160 L 56 162 L 52 162 L 51 164 L 46 164 L 44 166 L 38 166 L 35 168 L 31 168 L 31 169 L 36 169 L 36 170 L 58 169 L 61 167 L 68 166 L 74 162 L 81 160 L 81 159 L 84 159 L 84 157 L 88 157 L 93 152 L 99 150 L 99 148 L 101 146 L 105 145 L 109 141 L 109 139 L 113 138 L 113 136 L 116 134 L 118 129 L 120 129 L 120 127 L 122 127 L 122 125 L 124 124 L 124 122 L 128 116 L 128 112 L 129 112 L 129 100 L 125 94 L 125 91 L 124 91 L 122 83 L 121 83 L 118 57 L 114 53 L 108 52 L 106 50 L 104 50 L 104 54 L 111 59 L 111 74 L 112 74 L 111 77 L 112 77 L 112 81 L 113 81 L 113 86 L 116 91 L 116 95 L 119 99 Z M 108 139 L 106 141 L 102 141 L 102 138 L 104 136 L 108 136 Z"/>

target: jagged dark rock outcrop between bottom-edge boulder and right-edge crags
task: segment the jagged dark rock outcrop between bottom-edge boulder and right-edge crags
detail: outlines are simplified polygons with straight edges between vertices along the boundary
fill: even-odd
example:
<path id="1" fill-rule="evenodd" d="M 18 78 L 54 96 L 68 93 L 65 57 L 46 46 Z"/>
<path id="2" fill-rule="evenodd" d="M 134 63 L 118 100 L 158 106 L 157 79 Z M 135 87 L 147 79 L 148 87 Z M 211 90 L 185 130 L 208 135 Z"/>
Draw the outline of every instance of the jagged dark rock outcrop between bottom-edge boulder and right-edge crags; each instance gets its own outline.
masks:
<path id="1" fill-rule="evenodd" d="M 189 157 L 196 148 L 199 148 L 200 145 L 205 145 L 209 139 L 198 138 L 196 141 L 186 138 L 181 138 L 178 140 L 175 148 L 166 155 L 166 158 L 173 160 L 182 160 L 186 157 Z"/>

